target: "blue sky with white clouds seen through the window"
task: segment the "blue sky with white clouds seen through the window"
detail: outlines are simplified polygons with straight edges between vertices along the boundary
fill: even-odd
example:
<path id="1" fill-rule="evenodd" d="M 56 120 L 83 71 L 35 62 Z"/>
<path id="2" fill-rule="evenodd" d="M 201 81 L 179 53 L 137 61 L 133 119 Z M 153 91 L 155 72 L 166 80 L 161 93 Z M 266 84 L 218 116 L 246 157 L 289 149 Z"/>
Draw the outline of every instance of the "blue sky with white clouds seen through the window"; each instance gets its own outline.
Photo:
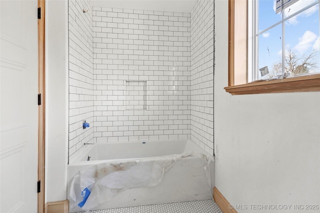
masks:
<path id="1" fill-rule="evenodd" d="M 284 9 L 284 17 L 287 17 L 318 0 L 298 0 Z M 264 30 L 281 20 L 282 14 L 275 13 L 275 0 L 259 0 L 258 30 Z M 281 62 L 282 53 L 282 26 L 281 23 L 263 32 L 258 37 L 258 68 L 268 66 L 272 72 L 273 63 Z M 316 51 L 313 61 L 316 67 L 309 72 L 320 69 L 320 43 L 319 43 L 319 4 L 293 16 L 285 21 L 285 48 L 296 53 L 297 58 L 303 58 Z"/>

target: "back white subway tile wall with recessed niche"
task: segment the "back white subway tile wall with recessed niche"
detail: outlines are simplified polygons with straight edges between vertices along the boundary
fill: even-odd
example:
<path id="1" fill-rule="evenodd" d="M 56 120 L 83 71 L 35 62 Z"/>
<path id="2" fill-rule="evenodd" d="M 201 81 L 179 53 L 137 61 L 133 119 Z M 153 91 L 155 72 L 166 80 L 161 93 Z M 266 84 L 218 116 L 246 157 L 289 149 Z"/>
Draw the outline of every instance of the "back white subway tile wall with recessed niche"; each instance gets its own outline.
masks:
<path id="1" fill-rule="evenodd" d="M 94 141 L 190 138 L 189 69 L 190 13 L 93 7 Z"/>

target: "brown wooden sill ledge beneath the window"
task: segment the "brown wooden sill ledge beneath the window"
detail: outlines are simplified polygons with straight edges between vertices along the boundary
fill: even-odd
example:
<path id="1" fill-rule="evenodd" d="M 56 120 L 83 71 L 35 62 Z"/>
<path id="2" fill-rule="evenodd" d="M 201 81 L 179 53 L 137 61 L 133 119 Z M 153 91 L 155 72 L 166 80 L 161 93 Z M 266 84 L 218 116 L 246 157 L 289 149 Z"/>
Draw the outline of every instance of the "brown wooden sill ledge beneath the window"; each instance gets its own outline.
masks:
<path id="1" fill-rule="evenodd" d="M 320 91 L 320 74 L 255 81 L 246 84 L 226 86 L 224 89 L 231 94 Z"/>

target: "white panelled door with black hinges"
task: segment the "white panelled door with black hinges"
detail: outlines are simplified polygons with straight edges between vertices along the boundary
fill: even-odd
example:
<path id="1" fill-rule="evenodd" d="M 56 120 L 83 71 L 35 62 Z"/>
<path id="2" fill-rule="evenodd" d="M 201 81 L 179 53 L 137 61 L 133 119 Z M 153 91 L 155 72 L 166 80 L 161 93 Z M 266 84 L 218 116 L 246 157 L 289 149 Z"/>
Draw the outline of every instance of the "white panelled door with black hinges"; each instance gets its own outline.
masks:
<path id="1" fill-rule="evenodd" d="M 0 0 L 0 212 L 37 211 L 37 0 Z"/>

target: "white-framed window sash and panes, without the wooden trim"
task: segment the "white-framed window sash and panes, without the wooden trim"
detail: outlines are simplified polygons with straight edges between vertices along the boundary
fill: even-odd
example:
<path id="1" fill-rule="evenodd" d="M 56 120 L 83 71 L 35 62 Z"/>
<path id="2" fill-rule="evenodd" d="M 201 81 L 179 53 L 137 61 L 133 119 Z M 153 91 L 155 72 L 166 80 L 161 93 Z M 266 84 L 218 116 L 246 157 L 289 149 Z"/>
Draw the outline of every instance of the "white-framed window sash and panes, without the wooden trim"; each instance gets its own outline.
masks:
<path id="1" fill-rule="evenodd" d="M 249 82 L 319 72 L 319 1 L 282 2 L 248 1 Z"/>

